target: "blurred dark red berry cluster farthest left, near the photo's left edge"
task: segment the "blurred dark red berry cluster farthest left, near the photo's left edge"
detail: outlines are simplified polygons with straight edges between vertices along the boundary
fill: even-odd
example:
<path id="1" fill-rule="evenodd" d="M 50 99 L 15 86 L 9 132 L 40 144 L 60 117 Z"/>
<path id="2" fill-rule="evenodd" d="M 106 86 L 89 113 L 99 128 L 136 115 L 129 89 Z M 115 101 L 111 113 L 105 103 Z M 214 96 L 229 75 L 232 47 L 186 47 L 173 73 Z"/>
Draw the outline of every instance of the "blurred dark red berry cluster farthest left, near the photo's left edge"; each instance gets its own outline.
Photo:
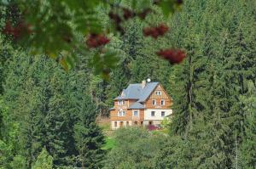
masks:
<path id="1" fill-rule="evenodd" d="M 16 26 L 13 26 L 11 22 L 8 20 L 5 24 L 3 32 L 7 35 L 13 36 L 15 39 L 19 38 L 22 34 L 31 34 L 32 29 L 31 25 L 20 21 Z"/>

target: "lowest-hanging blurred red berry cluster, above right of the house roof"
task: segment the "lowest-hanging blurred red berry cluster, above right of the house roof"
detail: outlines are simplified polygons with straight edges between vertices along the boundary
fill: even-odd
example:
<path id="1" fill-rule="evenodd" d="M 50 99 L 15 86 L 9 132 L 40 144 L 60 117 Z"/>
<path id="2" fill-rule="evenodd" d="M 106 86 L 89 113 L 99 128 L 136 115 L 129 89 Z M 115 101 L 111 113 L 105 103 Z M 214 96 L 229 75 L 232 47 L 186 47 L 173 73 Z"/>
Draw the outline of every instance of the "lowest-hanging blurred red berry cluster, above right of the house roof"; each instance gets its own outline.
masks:
<path id="1" fill-rule="evenodd" d="M 156 53 L 160 57 L 167 59 L 171 64 L 179 64 L 186 57 L 186 54 L 181 49 L 166 49 Z"/>

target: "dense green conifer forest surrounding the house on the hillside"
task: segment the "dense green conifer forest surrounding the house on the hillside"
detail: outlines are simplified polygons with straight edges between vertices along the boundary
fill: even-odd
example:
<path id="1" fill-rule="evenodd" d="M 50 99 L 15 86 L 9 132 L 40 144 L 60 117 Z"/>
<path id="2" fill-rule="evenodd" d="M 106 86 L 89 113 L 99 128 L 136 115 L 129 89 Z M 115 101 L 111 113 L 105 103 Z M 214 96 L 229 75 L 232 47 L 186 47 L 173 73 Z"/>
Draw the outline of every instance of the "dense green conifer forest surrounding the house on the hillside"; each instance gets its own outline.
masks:
<path id="1" fill-rule="evenodd" d="M 145 23 L 128 21 L 125 34 L 108 44 L 119 58 L 109 81 L 89 66 L 93 51 L 76 54 L 79 63 L 66 72 L 0 33 L 0 168 L 255 169 L 255 8 L 252 0 L 184 1 L 166 21 L 170 31 L 156 40 L 143 37 Z M 102 22 L 108 25 L 108 17 Z M 169 46 L 186 51 L 182 64 L 155 54 Z M 108 116 L 113 98 L 146 78 L 173 99 L 169 135 L 120 129 L 117 146 L 102 149 L 96 117 Z"/>

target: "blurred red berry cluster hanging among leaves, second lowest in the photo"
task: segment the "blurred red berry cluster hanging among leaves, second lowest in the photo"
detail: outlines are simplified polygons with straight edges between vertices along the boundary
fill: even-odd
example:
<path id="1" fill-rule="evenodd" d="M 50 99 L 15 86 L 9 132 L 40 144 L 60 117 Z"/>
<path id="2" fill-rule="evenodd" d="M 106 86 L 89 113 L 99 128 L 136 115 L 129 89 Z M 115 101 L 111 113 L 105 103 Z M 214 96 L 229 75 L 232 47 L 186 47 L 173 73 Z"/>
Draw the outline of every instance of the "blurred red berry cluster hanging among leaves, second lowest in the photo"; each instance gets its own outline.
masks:
<path id="1" fill-rule="evenodd" d="M 102 45 L 106 45 L 110 40 L 102 34 L 90 34 L 86 40 L 86 44 L 89 48 L 98 48 Z"/>

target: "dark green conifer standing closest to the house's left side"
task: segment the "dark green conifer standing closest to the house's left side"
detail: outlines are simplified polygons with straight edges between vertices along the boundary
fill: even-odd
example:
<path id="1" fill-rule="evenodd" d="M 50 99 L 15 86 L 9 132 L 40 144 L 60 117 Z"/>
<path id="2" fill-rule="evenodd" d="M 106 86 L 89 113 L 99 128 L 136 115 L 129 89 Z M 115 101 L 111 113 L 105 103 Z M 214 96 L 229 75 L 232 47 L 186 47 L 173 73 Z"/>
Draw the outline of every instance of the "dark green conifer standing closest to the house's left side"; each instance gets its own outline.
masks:
<path id="1" fill-rule="evenodd" d="M 96 125 L 96 106 L 90 97 L 81 96 L 79 99 L 79 117 L 74 125 L 74 139 L 79 151 L 77 159 L 82 168 L 99 168 L 104 157 L 104 137 Z"/>

